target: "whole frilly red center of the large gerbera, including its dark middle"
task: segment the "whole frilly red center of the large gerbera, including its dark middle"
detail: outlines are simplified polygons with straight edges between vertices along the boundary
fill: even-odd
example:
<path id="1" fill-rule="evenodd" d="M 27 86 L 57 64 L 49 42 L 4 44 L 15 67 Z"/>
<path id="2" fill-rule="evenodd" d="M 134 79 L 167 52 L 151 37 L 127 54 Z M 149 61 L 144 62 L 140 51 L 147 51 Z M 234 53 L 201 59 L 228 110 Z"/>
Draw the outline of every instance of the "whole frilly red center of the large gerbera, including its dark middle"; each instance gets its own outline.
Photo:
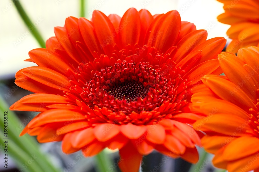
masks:
<path id="1" fill-rule="evenodd" d="M 114 46 L 109 52 L 81 64 L 70 81 L 74 94 L 66 93 L 92 124 L 156 124 L 182 112 L 188 103 L 187 86 L 181 77 L 185 71 L 175 67 L 170 58 L 152 47 L 138 45 L 123 50 Z"/>

